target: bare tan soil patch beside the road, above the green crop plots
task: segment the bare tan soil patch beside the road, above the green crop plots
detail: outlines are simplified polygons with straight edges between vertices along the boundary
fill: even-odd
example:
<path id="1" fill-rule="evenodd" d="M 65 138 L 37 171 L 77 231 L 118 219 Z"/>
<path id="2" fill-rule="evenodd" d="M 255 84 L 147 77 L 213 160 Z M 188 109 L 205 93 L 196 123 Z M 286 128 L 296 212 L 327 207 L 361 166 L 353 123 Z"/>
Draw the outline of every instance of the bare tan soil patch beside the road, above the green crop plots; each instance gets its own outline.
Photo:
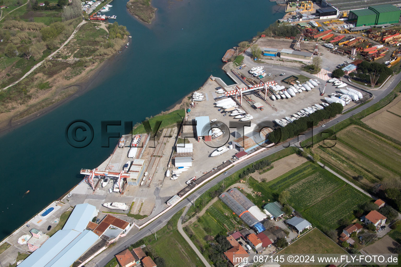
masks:
<path id="1" fill-rule="evenodd" d="M 273 169 L 262 174 L 259 174 L 256 171 L 255 173 L 252 173 L 251 176 L 259 182 L 261 182 L 262 179 L 265 179 L 266 182 L 268 182 L 300 166 L 302 163 L 306 161 L 307 160 L 304 157 L 299 156 L 297 154 L 292 154 L 290 156 L 284 157 L 282 159 L 279 159 L 278 161 L 274 161 L 273 163 L 271 163 L 271 165 L 273 165 Z"/>

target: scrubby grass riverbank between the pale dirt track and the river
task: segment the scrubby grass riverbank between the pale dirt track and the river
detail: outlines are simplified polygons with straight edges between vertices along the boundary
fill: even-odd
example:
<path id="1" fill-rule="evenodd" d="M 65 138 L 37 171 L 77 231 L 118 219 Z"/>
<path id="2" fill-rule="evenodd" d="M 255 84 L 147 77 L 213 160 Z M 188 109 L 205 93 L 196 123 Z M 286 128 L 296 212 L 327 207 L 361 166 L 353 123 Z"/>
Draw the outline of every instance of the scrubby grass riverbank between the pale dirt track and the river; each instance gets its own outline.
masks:
<path id="1" fill-rule="evenodd" d="M 111 25 L 111 24 L 109 24 Z M 124 26 L 117 26 L 125 32 Z M 115 31 L 115 30 L 114 30 Z M 16 126 L 45 114 L 74 96 L 85 93 L 90 85 L 99 78 L 100 73 L 112 64 L 111 58 L 124 52 L 129 42 L 128 32 L 122 39 L 108 40 L 109 32 L 104 24 L 88 22 L 54 58 L 46 61 L 18 84 L 7 89 L 6 94 L 15 94 L 24 88 L 27 100 L 3 99 L 4 108 L 0 113 L 0 132 L 8 132 Z M 105 44 L 111 46 L 103 48 Z M 100 47 L 103 46 L 103 47 Z M 79 49 L 82 47 L 83 49 Z M 119 52 L 122 51 L 122 52 Z M 116 54 L 117 52 L 117 54 Z M 25 91 L 25 92 L 26 92 Z M 12 99 L 11 99 L 12 100 Z"/>

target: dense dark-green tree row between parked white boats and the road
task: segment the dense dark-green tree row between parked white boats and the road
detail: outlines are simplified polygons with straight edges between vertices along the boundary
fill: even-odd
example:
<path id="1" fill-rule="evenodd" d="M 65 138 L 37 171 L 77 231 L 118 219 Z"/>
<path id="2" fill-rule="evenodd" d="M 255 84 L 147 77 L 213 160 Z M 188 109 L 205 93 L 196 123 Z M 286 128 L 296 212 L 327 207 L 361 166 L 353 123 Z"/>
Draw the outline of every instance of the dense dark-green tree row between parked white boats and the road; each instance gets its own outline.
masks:
<path id="1" fill-rule="evenodd" d="M 343 106 L 339 103 L 332 103 L 324 109 L 316 110 L 306 117 L 301 117 L 294 122 L 287 124 L 285 127 L 280 127 L 269 133 L 269 141 L 279 143 L 286 141 L 289 138 L 299 135 L 312 126 L 318 125 L 322 120 L 332 118 L 342 112 Z"/>

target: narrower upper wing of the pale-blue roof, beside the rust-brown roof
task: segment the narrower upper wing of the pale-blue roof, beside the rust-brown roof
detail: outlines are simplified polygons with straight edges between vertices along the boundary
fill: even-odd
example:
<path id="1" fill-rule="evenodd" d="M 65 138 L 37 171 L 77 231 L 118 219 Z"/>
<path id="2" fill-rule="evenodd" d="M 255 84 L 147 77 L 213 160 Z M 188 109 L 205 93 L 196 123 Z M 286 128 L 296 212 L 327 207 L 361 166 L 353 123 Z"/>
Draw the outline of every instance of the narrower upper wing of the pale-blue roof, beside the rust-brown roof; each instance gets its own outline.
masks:
<path id="1" fill-rule="evenodd" d="M 68 221 L 65 223 L 63 230 L 74 229 L 83 232 L 88 222 L 96 215 L 96 207 L 88 203 L 78 204 L 75 206 Z"/>

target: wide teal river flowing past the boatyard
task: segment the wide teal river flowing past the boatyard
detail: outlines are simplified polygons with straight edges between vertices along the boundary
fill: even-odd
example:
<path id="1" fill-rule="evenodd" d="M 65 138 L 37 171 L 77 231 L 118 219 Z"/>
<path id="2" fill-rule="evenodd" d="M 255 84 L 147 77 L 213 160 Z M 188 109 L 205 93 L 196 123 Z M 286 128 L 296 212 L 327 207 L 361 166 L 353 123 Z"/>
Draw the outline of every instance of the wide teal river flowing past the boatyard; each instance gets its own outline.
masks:
<path id="1" fill-rule="evenodd" d="M 153 0 L 157 19 L 145 26 L 130 16 L 126 1 L 111 4 L 108 13 L 132 36 L 129 48 L 111 60 L 91 90 L 0 137 L 0 240 L 79 183 L 81 168 L 95 168 L 110 155 L 117 139 L 101 147 L 101 120 L 135 124 L 166 110 L 211 74 L 231 82 L 221 70 L 225 51 L 283 16 L 283 8 L 268 0 Z M 94 128 L 83 149 L 65 140 L 75 119 Z"/>

